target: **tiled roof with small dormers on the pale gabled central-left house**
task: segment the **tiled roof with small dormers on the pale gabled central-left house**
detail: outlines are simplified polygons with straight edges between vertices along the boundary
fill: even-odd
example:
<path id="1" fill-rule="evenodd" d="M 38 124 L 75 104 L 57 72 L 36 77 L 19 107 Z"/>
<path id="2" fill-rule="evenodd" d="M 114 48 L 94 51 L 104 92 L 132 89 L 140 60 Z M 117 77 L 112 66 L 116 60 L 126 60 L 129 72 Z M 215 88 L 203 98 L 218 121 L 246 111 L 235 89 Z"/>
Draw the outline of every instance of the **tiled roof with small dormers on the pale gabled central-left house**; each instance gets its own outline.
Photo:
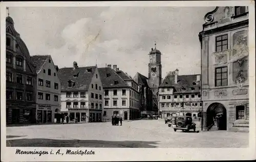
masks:
<path id="1" fill-rule="evenodd" d="M 88 71 L 91 70 L 91 72 Z M 61 68 L 58 70 L 58 77 L 61 84 L 61 91 L 88 91 L 92 77 L 94 75 L 96 66 L 78 67 L 75 70 L 73 68 Z M 74 77 L 74 75 L 77 75 Z M 74 82 L 73 87 L 69 86 L 69 80 Z"/>

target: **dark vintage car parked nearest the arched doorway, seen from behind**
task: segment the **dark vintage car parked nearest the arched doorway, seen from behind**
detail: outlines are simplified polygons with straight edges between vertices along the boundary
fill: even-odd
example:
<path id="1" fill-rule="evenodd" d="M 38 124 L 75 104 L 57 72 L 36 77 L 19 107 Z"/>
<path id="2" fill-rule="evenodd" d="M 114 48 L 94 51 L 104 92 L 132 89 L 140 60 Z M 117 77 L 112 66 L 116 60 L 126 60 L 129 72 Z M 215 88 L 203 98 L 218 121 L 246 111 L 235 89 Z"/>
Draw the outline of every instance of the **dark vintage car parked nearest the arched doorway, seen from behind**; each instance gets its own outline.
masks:
<path id="1" fill-rule="evenodd" d="M 189 131 L 193 129 L 196 132 L 196 123 L 192 122 L 192 117 L 190 116 L 177 116 L 172 124 L 174 131 L 181 129 L 182 131 Z"/>

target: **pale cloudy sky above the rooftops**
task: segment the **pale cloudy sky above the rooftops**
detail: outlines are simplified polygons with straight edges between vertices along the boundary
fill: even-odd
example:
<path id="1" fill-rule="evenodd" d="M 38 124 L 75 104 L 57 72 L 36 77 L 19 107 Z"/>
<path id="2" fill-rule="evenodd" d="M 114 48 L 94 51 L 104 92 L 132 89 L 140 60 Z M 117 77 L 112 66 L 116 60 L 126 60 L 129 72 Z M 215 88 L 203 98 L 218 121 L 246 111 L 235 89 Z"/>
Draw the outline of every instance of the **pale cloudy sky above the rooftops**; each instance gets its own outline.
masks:
<path id="1" fill-rule="evenodd" d="M 14 27 L 30 55 L 51 55 L 55 65 L 116 64 L 147 76 L 148 53 L 162 52 L 162 77 L 200 73 L 199 32 L 215 7 L 10 8 Z"/>

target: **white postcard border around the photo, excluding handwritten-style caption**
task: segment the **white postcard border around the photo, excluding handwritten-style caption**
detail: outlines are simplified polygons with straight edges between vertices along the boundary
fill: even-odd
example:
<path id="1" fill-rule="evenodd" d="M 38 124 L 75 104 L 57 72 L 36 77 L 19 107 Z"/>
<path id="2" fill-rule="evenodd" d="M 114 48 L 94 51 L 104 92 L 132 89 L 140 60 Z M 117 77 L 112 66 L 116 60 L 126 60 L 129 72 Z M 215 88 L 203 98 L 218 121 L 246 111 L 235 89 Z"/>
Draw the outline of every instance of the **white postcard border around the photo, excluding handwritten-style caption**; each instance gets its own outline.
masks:
<path id="1" fill-rule="evenodd" d="M 2 161 L 130 161 L 130 160 L 244 160 L 255 159 L 255 20 L 254 1 L 149 1 L 149 2 L 1 2 L 1 47 L 5 47 L 6 7 L 88 7 L 88 6 L 249 6 L 249 107 L 248 148 L 86 148 L 95 155 L 17 155 L 6 147 L 5 48 L 1 48 L 1 160 Z M 210 12 L 210 11 L 209 11 Z M 204 15 L 202 15 L 202 18 Z M 203 24 L 202 24 L 203 25 Z M 77 148 L 19 148 L 23 150 L 62 151 Z"/>

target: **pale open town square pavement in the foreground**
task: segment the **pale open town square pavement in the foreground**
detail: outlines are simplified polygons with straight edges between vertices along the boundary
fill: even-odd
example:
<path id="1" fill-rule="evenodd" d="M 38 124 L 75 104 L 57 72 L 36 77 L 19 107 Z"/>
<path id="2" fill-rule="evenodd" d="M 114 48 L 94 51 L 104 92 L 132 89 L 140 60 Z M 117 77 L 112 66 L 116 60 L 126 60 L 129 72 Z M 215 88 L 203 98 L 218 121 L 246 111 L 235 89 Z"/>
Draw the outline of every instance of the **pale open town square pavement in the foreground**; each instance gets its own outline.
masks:
<path id="1" fill-rule="evenodd" d="M 7 147 L 233 148 L 248 147 L 248 132 L 182 132 L 163 120 L 7 127 Z"/>

